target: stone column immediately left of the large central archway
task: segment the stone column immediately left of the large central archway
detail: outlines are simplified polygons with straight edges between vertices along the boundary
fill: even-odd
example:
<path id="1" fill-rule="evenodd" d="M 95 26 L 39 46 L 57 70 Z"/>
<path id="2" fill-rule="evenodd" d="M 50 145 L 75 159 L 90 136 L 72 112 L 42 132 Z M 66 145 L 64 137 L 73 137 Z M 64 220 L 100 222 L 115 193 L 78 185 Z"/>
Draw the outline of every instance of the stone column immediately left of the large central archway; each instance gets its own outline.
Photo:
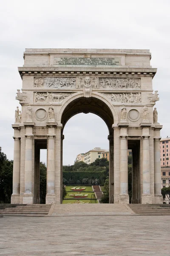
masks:
<path id="1" fill-rule="evenodd" d="M 55 153 L 54 153 L 55 141 L 54 141 L 54 137 L 55 137 L 54 135 L 48 135 L 46 204 L 55 203 Z"/>

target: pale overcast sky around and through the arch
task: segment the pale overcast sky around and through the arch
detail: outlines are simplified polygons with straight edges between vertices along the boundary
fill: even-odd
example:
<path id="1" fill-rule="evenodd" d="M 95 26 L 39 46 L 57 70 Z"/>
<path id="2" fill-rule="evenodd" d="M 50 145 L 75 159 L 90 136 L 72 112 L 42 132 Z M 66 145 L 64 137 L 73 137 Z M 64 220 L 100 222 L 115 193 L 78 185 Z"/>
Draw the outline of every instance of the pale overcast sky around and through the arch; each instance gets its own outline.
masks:
<path id="1" fill-rule="evenodd" d="M 161 136 L 170 136 L 169 0 L 6 0 L 0 4 L 0 146 L 13 159 L 15 100 L 25 48 L 150 49 L 158 71 L 153 89 Z M 93 114 L 72 117 L 64 128 L 63 163 L 94 147 L 108 149 L 108 128 Z M 45 154 L 41 156 L 45 161 Z"/>

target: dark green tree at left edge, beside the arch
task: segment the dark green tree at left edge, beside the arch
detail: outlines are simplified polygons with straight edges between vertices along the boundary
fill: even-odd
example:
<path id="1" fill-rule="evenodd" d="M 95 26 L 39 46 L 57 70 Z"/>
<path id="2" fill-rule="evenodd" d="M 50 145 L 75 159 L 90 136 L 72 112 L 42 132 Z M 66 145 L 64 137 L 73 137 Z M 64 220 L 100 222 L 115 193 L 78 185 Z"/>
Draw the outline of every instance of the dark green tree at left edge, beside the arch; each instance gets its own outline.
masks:
<path id="1" fill-rule="evenodd" d="M 7 159 L 0 147 L 0 203 L 10 204 L 12 194 L 13 161 Z"/>

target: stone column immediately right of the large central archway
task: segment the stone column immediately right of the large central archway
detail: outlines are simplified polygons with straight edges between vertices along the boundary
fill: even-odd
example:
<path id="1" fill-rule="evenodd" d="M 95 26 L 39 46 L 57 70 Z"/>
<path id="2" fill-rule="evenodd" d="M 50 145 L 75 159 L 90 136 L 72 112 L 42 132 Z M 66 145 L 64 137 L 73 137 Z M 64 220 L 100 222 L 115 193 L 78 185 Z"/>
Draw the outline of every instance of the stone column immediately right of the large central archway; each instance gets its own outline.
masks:
<path id="1" fill-rule="evenodd" d="M 120 136 L 120 203 L 129 204 L 127 138 Z"/>

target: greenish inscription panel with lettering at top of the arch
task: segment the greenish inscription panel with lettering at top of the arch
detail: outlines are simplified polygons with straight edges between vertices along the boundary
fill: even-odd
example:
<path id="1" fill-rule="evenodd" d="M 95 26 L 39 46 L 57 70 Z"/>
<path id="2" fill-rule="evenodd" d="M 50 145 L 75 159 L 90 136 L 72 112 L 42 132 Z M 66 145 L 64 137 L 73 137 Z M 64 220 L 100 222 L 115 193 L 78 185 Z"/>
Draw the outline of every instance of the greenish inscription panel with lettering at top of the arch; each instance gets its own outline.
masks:
<path id="1" fill-rule="evenodd" d="M 121 58 L 83 58 L 83 57 L 55 57 L 54 65 L 59 66 L 116 66 L 121 65 Z"/>

